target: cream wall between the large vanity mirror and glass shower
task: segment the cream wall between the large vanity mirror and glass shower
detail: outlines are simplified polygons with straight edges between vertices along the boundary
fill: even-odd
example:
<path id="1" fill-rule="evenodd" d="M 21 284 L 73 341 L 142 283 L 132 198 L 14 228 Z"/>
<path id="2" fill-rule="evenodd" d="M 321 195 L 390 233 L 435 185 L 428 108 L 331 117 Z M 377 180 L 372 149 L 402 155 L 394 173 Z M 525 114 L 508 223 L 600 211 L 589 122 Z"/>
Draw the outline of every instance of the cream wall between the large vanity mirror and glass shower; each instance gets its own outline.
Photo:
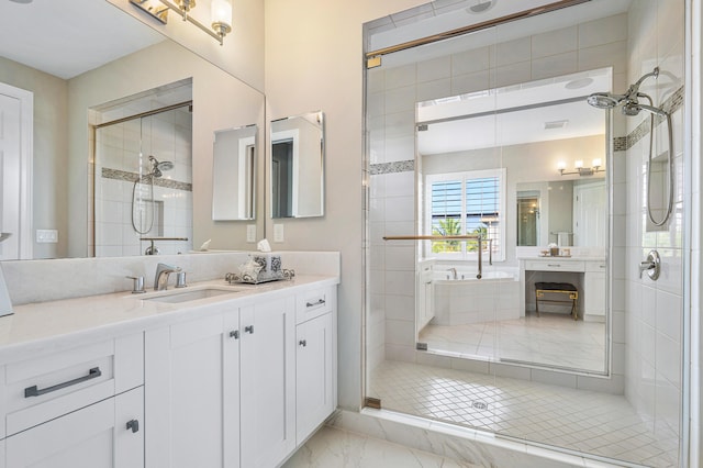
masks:
<path id="1" fill-rule="evenodd" d="M 268 120 L 325 113 L 325 215 L 286 220 L 275 249 L 339 250 L 339 404 L 361 403 L 364 232 L 362 35 L 365 22 L 424 0 L 266 0 Z M 267 233 L 272 237 L 272 223 Z"/>

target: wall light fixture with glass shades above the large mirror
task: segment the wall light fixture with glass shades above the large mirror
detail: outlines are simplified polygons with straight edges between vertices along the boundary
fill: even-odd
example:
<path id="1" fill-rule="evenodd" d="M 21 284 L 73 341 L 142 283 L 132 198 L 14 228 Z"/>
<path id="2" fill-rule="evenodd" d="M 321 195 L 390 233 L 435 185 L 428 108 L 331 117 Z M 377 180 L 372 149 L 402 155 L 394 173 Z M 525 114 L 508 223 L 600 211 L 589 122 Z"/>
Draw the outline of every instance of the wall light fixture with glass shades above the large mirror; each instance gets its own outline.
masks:
<path id="1" fill-rule="evenodd" d="M 138 7 L 159 22 L 168 23 L 168 10 L 177 12 L 183 21 L 198 26 L 205 34 L 212 36 L 222 45 L 224 36 L 232 32 L 232 0 L 212 0 L 210 2 L 211 27 L 205 26 L 200 21 L 190 15 L 190 11 L 196 8 L 196 0 L 130 0 L 130 3 Z"/>

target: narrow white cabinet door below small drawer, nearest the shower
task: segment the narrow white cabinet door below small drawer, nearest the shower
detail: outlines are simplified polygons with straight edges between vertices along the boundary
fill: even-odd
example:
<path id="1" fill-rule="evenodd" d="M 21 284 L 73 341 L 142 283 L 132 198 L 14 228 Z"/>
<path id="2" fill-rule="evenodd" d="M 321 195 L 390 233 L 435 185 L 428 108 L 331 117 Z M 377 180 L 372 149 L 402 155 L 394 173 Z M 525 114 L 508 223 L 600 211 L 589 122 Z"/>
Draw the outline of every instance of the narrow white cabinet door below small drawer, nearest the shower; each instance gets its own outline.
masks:
<path id="1" fill-rule="evenodd" d="M 334 411 L 332 314 L 297 326 L 295 397 L 298 444 Z"/>

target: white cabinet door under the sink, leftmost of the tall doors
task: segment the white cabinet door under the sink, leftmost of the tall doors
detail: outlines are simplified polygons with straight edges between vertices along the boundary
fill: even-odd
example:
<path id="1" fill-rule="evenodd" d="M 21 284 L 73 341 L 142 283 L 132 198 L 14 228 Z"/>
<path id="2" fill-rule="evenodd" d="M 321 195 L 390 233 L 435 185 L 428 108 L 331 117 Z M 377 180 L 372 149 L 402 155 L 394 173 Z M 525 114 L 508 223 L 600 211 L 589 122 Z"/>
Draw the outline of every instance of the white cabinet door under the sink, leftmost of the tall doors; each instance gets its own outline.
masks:
<path id="1" fill-rule="evenodd" d="M 238 436 L 225 439 L 224 433 L 233 400 L 227 391 L 238 382 L 236 339 L 224 330 L 225 317 L 213 315 L 147 332 L 147 466 L 238 466 L 225 460 L 238 461 Z"/>

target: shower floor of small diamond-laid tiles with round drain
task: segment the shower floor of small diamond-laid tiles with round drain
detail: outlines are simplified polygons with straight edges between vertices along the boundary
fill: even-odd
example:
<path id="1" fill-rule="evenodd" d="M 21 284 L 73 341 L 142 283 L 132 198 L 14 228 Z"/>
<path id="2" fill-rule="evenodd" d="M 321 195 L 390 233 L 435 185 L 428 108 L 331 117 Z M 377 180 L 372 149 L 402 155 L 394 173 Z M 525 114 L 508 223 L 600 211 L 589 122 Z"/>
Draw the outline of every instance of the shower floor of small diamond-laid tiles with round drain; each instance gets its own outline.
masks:
<path id="1" fill-rule="evenodd" d="M 678 466 L 678 444 L 658 441 L 622 395 L 390 360 L 372 372 L 369 390 L 387 410 L 644 466 Z"/>

